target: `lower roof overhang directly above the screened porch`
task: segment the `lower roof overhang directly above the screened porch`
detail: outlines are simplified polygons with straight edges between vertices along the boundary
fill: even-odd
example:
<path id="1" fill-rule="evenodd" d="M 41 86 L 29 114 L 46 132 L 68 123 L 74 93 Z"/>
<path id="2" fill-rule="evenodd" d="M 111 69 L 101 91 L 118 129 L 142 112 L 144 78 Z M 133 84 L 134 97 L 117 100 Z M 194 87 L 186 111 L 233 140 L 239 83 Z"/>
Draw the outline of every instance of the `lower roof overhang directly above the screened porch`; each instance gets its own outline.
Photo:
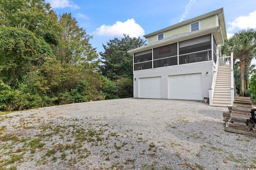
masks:
<path id="1" fill-rule="evenodd" d="M 185 40 L 200 37 L 200 36 L 203 36 L 203 35 L 208 35 L 208 34 L 211 34 L 211 33 L 213 33 L 217 45 L 223 45 L 224 44 L 221 27 L 217 26 L 217 27 L 212 27 L 212 28 L 208 28 L 208 29 L 192 31 L 192 32 L 189 32 L 189 33 L 182 33 L 182 34 L 178 34 L 178 35 L 172 35 L 172 36 L 166 37 L 166 38 L 164 38 L 160 41 L 150 43 L 150 44 L 144 45 L 142 47 L 130 50 L 130 51 L 128 51 L 128 53 L 134 54 L 134 53 L 138 53 L 138 52 L 141 52 L 141 51 L 145 51 L 145 50 L 149 50 L 149 49 L 153 49 L 153 48 L 157 48 L 157 47 L 162 47 L 164 45 L 177 43 L 177 42 L 180 42 L 180 41 L 185 41 Z"/>

